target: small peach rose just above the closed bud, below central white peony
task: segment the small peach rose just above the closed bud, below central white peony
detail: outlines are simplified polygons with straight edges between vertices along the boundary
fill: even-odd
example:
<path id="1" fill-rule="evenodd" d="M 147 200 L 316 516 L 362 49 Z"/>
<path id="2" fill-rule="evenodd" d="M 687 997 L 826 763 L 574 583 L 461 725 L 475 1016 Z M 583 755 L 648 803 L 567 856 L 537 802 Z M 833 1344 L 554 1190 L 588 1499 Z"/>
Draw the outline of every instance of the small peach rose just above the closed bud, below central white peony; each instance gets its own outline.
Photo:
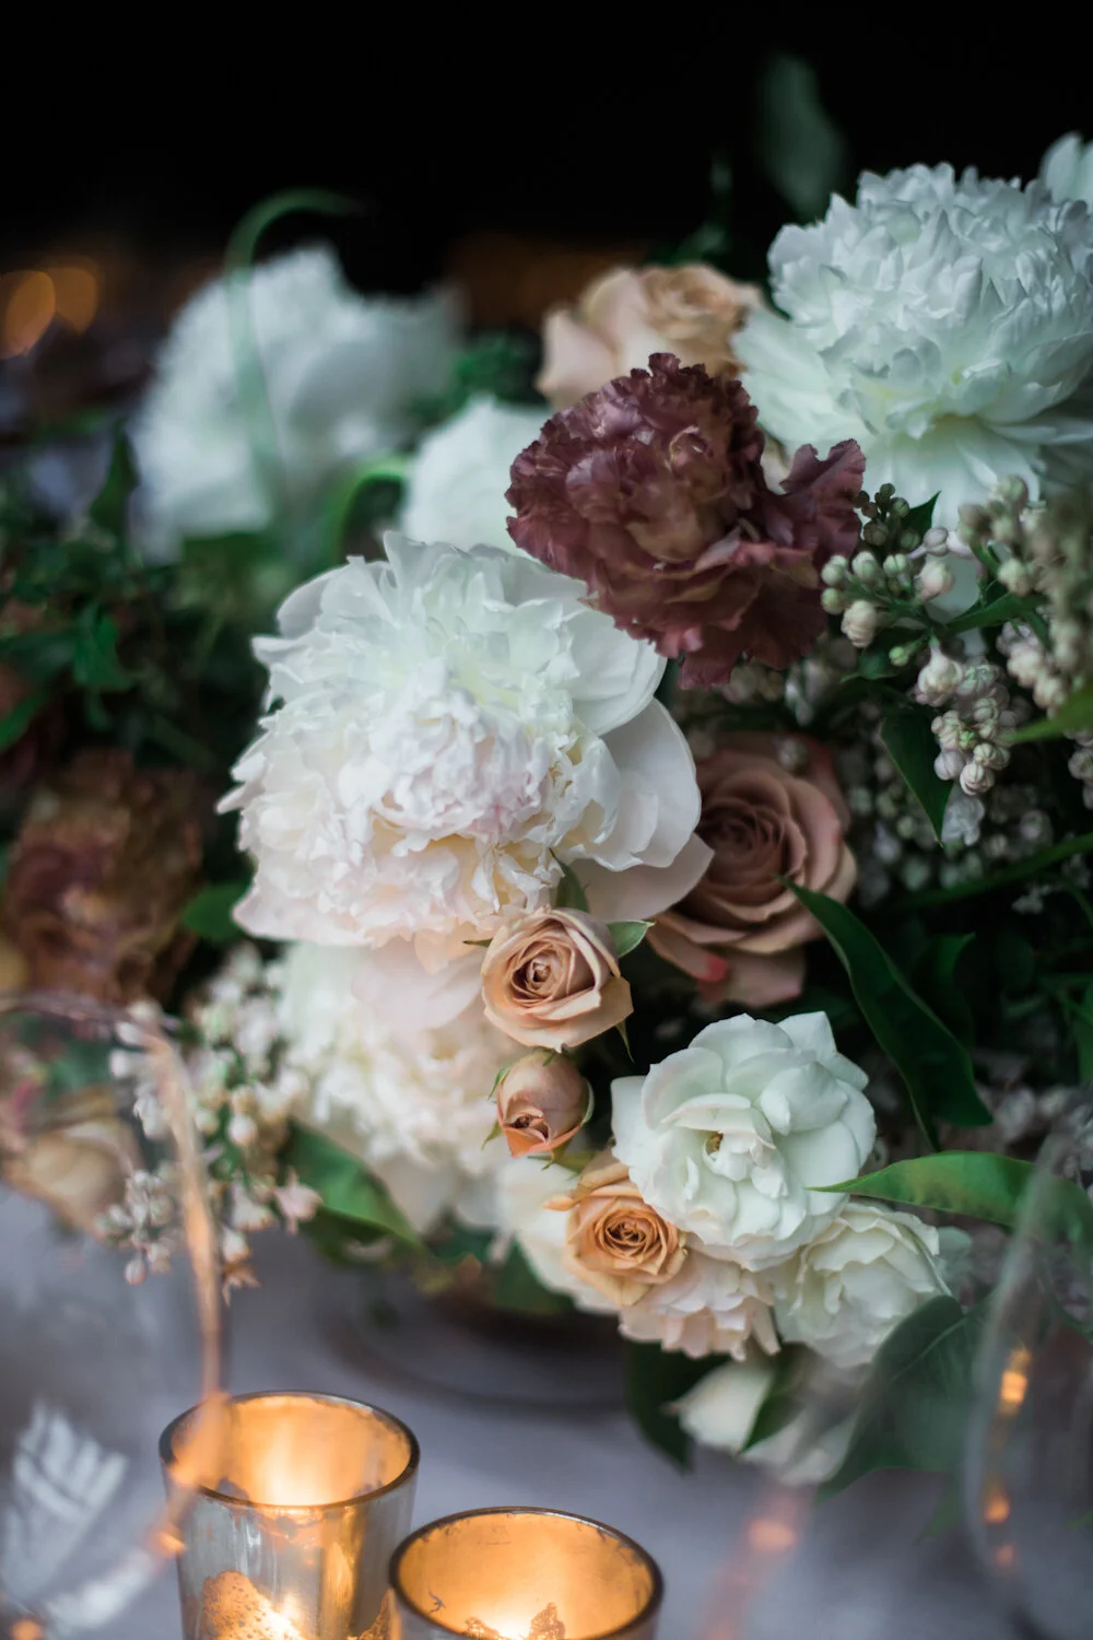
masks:
<path id="1" fill-rule="evenodd" d="M 587 912 L 533 912 L 490 941 L 487 1018 L 528 1048 L 575 1048 L 634 1012 L 606 923 Z"/>

